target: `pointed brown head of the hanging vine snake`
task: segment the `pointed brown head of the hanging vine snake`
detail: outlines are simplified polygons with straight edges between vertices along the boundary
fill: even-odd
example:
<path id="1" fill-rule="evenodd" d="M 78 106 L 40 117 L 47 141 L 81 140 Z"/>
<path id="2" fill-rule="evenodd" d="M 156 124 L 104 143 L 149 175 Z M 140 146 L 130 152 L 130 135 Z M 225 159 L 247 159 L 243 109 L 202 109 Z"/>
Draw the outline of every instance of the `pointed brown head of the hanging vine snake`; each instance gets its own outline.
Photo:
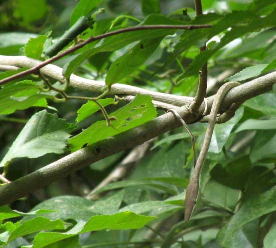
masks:
<path id="1" fill-rule="evenodd" d="M 184 220 L 189 221 L 194 211 L 197 195 L 199 189 L 199 182 L 197 180 L 191 180 L 185 195 L 185 216 Z"/>

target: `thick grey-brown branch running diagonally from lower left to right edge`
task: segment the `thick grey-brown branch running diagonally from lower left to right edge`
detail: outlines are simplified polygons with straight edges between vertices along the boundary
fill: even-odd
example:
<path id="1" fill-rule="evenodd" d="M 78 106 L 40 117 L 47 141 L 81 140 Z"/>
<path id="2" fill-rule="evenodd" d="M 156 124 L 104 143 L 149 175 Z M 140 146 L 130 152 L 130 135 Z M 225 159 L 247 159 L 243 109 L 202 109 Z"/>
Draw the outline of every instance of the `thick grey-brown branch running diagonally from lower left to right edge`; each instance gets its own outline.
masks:
<path id="1" fill-rule="evenodd" d="M 1 64 L 1 63 L 0 63 Z M 251 80 L 245 84 L 237 86 L 228 91 L 222 101 L 222 108 L 234 102 L 247 100 L 256 95 L 262 94 L 272 89 L 276 82 L 276 72 Z M 211 108 L 213 96 L 208 97 L 208 109 Z M 201 104 L 199 112 L 203 112 L 204 104 Z M 186 109 L 178 109 L 180 116 L 186 123 L 192 123 L 200 116 L 194 116 Z M 173 113 L 163 114 L 139 127 L 127 132 L 99 141 L 89 147 L 80 149 L 70 155 L 63 157 L 29 175 L 17 179 L 3 187 L 0 187 L 0 205 L 11 203 L 23 196 L 26 196 L 55 180 L 64 177 L 80 168 L 90 165 L 100 159 L 112 154 L 126 150 L 159 136 L 167 131 L 181 125 Z"/>

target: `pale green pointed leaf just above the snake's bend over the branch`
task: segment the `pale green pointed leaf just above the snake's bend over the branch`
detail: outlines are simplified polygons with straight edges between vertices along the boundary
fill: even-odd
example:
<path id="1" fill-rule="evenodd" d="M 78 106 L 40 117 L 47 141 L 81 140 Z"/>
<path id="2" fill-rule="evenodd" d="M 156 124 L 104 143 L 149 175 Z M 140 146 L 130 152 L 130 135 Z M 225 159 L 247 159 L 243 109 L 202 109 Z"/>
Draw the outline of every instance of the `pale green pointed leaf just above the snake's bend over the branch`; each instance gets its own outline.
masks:
<path id="1" fill-rule="evenodd" d="M 237 72 L 233 76 L 227 78 L 228 81 L 243 81 L 252 77 L 259 76 L 267 64 L 259 64 L 246 67 L 245 69 Z"/>

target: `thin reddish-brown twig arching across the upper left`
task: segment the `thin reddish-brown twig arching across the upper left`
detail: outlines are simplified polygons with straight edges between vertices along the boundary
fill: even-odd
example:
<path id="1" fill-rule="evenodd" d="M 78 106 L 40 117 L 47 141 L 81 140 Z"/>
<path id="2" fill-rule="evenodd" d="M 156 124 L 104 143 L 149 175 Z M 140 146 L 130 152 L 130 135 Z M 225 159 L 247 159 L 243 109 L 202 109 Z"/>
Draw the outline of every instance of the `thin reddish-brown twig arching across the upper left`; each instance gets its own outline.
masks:
<path id="1" fill-rule="evenodd" d="M 118 34 L 122 34 L 122 33 L 126 33 L 126 32 L 133 32 L 133 31 L 140 31 L 140 30 L 152 30 L 152 29 L 187 29 L 187 30 L 193 30 L 193 29 L 201 29 L 201 28 L 211 28 L 212 25 L 145 25 L 145 26 L 136 26 L 136 27 L 130 27 L 130 28 L 125 28 L 125 29 L 119 29 L 116 31 L 112 31 L 109 33 L 105 33 L 102 35 L 98 35 L 95 37 L 90 37 L 87 40 L 85 40 L 84 42 L 81 42 L 79 44 L 77 44 L 76 46 L 59 53 L 58 55 L 47 59 L 46 61 L 40 63 L 39 65 L 20 72 L 18 74 L 15 74 L 13 76 L 7 77 L 5 79 L 0 80 L 0 85 L 1 84 L 5 84 L 7 82 L 10 82 L 12 80 L 18 79 L 20 77 L 35 73 L 36 71 L 38 71 L 39 69 L 41 69 L 42 67 L 44 67 L 45 65 L 51 64 L 52 62 L 78 50 L 79 48 L 84 47 L 85 45 L 87 45 L 88 43 L 91 43 L 93 41 L 97 41 L 97 40 L 101 40 L 103 38 L 109 37 L 109 36 L 114 36 L 114 35 L 118 35 Z"/>

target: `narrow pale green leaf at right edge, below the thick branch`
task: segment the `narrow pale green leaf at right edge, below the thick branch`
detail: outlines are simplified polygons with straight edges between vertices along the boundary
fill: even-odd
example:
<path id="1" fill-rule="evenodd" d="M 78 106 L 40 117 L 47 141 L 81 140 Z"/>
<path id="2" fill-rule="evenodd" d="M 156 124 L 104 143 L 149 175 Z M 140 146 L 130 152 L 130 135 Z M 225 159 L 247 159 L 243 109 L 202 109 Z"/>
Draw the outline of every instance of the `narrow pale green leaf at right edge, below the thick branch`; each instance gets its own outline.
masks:
<path id="1" fill-rule="evenodd" d="M 247 119 L 238 126 L 235 133 L 244 130 L 276 129 L 276 119 Z"/>

